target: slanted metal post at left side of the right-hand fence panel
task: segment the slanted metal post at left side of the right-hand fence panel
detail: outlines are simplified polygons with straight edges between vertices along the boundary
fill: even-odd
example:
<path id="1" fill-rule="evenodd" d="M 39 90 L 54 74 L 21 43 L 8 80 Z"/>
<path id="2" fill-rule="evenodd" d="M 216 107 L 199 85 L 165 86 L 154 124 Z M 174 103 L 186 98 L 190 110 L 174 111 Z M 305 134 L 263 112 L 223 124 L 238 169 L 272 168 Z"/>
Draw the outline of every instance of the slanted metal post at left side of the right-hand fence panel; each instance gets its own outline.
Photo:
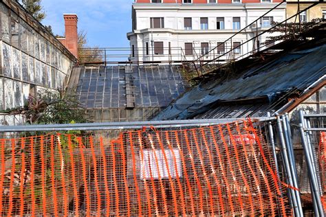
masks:
<path id="1" fill-rule="evenodd" d="M 316 206 L 316 209 L 318 210 L 318 214 L 320 216 L 324 216 L 324 210 L 323 210 L 323 204 L 321 203 L 321 198 L 319 195 L 319 190 L 318 190 L 318 183 L 316 179 L 314 179 L 314 169 L 312 165 L 312 159 L 310 159 L 309 155 L 309 148 L 307 147 L 307 142 L 305 139 L 305 131 L 303 130 L 303 124 L 299 124 L 300 126 L 300 133 L 301 133 L 301 139 L 303 143 L 303 150 L 305 151 L 305 158 L 307 162 L 307 168 L 308 168 L 308 174 L 309 178 L 311 179 L 311 188 L 312 192 L 314 192 L 314 206 Z"/>

